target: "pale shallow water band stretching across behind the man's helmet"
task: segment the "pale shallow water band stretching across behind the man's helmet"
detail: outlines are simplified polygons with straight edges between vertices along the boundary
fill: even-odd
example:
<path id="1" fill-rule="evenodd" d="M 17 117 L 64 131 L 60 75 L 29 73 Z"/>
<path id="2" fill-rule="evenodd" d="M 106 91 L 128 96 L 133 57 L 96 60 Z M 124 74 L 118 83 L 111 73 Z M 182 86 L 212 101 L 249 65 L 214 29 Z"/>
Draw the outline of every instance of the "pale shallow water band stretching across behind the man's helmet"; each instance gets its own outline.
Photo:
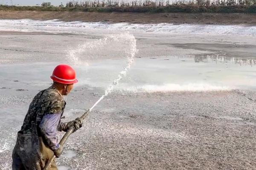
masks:
<path id="1" fill-rule="evenodd" d="M 233 59 L 192 57 L 136 58 L 134 65 L 115 90 L 134 92 L 256 90 L 256 65 Z M 253 60 L 253 59 L 251 59 Z M 146 63 L 146 64 L 145 64 Z M 57 63 L 0 65 L 2 94 L 21 94 L 47 87 L 49 74 Z M 88 61 L 75 65 L 79 84 L 105 89 L 125 66 L 121 59 Z M 40 68 L 40 69 L 38 69 Z M 16 72 L 19 70 L 19 72 Z M 42 72 L 48 74 L 41 74 Z M 22 77 L 22 78 L 21 78 Z M 17 80 L 18 82 L 15 82 Z M 75 87 L 75 89 L 76 89 Z M 22 89 L 22 90 L 20 90 Z"/>

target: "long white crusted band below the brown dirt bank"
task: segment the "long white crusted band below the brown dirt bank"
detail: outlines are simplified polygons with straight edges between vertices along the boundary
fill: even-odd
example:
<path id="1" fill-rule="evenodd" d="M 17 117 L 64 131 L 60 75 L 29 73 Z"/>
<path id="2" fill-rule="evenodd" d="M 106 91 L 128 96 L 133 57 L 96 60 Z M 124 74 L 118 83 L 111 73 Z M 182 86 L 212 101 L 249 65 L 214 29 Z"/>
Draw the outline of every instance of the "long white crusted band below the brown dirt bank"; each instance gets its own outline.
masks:
<path id="1" fill-rule="evenodd" d="M 0 31 L 87 34 L 88 30 L 143 31 L 169 34 L 256 35 L 256 26 L 199 24 L 130 24 L 103 22 L 64 22 L 60 20 L 0 20 Z"/>

